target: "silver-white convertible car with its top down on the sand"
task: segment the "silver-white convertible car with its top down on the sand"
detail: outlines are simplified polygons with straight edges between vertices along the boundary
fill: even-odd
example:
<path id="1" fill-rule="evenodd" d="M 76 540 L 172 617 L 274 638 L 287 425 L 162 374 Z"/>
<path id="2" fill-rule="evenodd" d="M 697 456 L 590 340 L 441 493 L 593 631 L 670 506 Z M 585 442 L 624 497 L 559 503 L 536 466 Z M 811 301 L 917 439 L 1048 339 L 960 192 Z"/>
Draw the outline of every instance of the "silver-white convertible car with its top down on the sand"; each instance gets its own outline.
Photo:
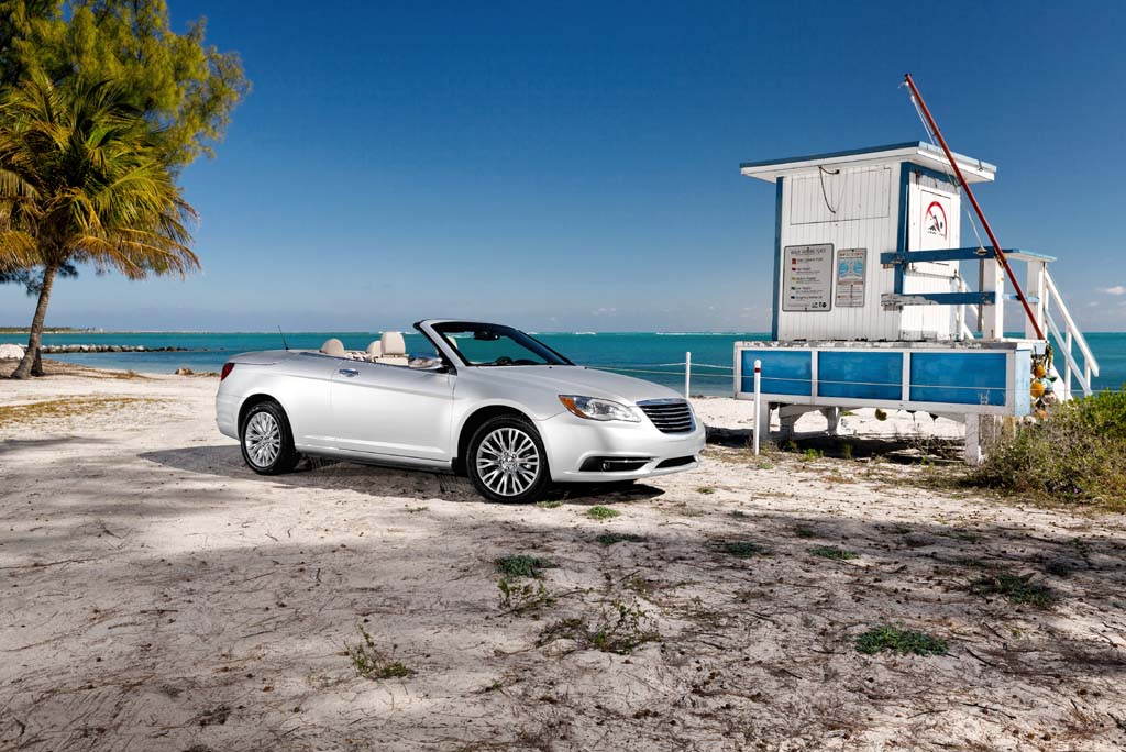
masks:
<path id="1" fill-rule="evenodd" d="M 406 356 L 387 332 L 364 352 L 247 352 L 223 366 L 215 414 L 256 473 L 301 455 L 465 473 L 493 501 L 552 482 L 632 481 L 690 469 L 704 427 L 676 392 L 577 366 L 511 326 L 428 320 Z"/>

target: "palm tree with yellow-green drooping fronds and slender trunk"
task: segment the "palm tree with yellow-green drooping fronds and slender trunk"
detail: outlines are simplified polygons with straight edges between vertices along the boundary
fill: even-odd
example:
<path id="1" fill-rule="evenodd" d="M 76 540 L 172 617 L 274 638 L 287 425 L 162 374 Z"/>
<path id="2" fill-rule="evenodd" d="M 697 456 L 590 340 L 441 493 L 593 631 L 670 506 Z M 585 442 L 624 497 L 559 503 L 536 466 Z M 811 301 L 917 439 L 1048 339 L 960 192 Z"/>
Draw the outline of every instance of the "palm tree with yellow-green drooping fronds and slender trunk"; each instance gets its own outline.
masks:
<path id="1" fill-rule="evenodd" d="M 161 159 L 160 132 L 111 82 L 32 72 L 0 98 L 0 272 L 42 275 L 27 378 L 61 269 L 90 263 L 131 279 L 199 268 L 184 200 Z"/>

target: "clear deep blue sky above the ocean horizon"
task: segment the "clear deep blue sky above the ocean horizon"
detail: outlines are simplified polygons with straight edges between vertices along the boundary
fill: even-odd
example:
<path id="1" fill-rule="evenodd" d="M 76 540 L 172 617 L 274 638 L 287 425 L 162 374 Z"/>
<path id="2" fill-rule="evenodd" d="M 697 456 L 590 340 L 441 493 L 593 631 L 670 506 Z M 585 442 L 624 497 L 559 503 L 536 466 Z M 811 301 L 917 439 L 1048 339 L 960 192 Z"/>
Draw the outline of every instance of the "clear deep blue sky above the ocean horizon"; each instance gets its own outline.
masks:
<path id="1" fill-rule="evenodd" d="M 1001 242 L 1126 330 L 1121 3 L 170 5 L 253 81 L 184 174 L 204 271 L 84 271 L 48 324 L 761 331 L 774 190 L 739 163 L 924 138 L 911 71 L 999 165 Z M 0 287 L 0 323 L 32 306 Z"/>

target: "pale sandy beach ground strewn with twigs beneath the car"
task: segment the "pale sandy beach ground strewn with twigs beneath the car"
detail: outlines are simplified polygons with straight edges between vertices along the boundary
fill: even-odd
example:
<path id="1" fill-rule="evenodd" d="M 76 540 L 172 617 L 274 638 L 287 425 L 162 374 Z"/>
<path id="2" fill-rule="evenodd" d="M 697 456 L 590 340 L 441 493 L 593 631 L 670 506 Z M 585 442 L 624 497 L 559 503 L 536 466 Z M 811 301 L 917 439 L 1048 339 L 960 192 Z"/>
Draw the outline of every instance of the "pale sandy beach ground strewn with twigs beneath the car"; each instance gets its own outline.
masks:
<path id="1" fill-rule="evenodd" d="M 956 423 L 861 412 L 851 458 L 753 457 L 750 405 L 699 400 L 700 468 L 498 505 L 348 463 L 256 476 L 216 384 L 0 382 L 0 750 L 1126 745 L 1126 520 L 936 490 L 955 468 L 906 460 Z M 512 554 L 552 566 L 504 606 Z M 1051 602 L 974 592 L 995 573 Z M 948 651 L 859 653 L 881 625 Z M 357 675 L 360 628 L 408 675 Z"/>

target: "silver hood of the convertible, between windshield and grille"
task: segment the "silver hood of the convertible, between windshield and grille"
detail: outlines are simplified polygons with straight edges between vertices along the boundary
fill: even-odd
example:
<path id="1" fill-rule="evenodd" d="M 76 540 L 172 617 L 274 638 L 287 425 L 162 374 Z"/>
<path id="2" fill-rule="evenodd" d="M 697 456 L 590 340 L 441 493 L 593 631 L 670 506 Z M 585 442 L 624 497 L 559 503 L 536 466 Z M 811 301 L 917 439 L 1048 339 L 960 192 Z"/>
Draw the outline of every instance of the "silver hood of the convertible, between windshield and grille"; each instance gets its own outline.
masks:
<path id="1" fill-rule="evenodd" d="M 604 397 L 626 403 L 682 396 L 653 382 L 584 366 L 499 366 L 479 367 L 474 371 L 493 384 L 534 384 L 557 394 Z"/>

